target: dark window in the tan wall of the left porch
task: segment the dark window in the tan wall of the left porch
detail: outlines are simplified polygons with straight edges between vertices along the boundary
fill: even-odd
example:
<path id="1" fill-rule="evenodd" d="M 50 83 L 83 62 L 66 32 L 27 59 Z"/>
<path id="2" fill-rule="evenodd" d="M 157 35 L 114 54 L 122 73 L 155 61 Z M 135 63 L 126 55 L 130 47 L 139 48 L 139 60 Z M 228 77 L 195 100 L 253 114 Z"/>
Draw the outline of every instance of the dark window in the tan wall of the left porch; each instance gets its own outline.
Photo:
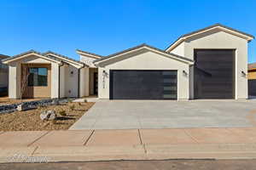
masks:
<path id="1" fill-rule="evenodd" d="M 29 68 L 28 86 L 47 86 L 47 68 Z"/>

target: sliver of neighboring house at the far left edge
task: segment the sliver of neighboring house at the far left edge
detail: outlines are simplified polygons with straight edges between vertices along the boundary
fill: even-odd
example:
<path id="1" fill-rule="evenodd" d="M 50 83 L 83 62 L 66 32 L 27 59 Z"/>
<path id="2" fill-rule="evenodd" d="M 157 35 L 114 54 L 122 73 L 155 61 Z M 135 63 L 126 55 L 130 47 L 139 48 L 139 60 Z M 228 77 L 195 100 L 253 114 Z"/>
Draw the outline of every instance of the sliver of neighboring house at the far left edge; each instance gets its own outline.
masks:
<path id="1" fill-rule="evenodd" d="M 7 95 L 8 93 L 9 69 L 8 65 L 2 63 L 2 59 L 7 58 L 9 58 L 8 55 L 0 54 L 0 96 Z"/>

